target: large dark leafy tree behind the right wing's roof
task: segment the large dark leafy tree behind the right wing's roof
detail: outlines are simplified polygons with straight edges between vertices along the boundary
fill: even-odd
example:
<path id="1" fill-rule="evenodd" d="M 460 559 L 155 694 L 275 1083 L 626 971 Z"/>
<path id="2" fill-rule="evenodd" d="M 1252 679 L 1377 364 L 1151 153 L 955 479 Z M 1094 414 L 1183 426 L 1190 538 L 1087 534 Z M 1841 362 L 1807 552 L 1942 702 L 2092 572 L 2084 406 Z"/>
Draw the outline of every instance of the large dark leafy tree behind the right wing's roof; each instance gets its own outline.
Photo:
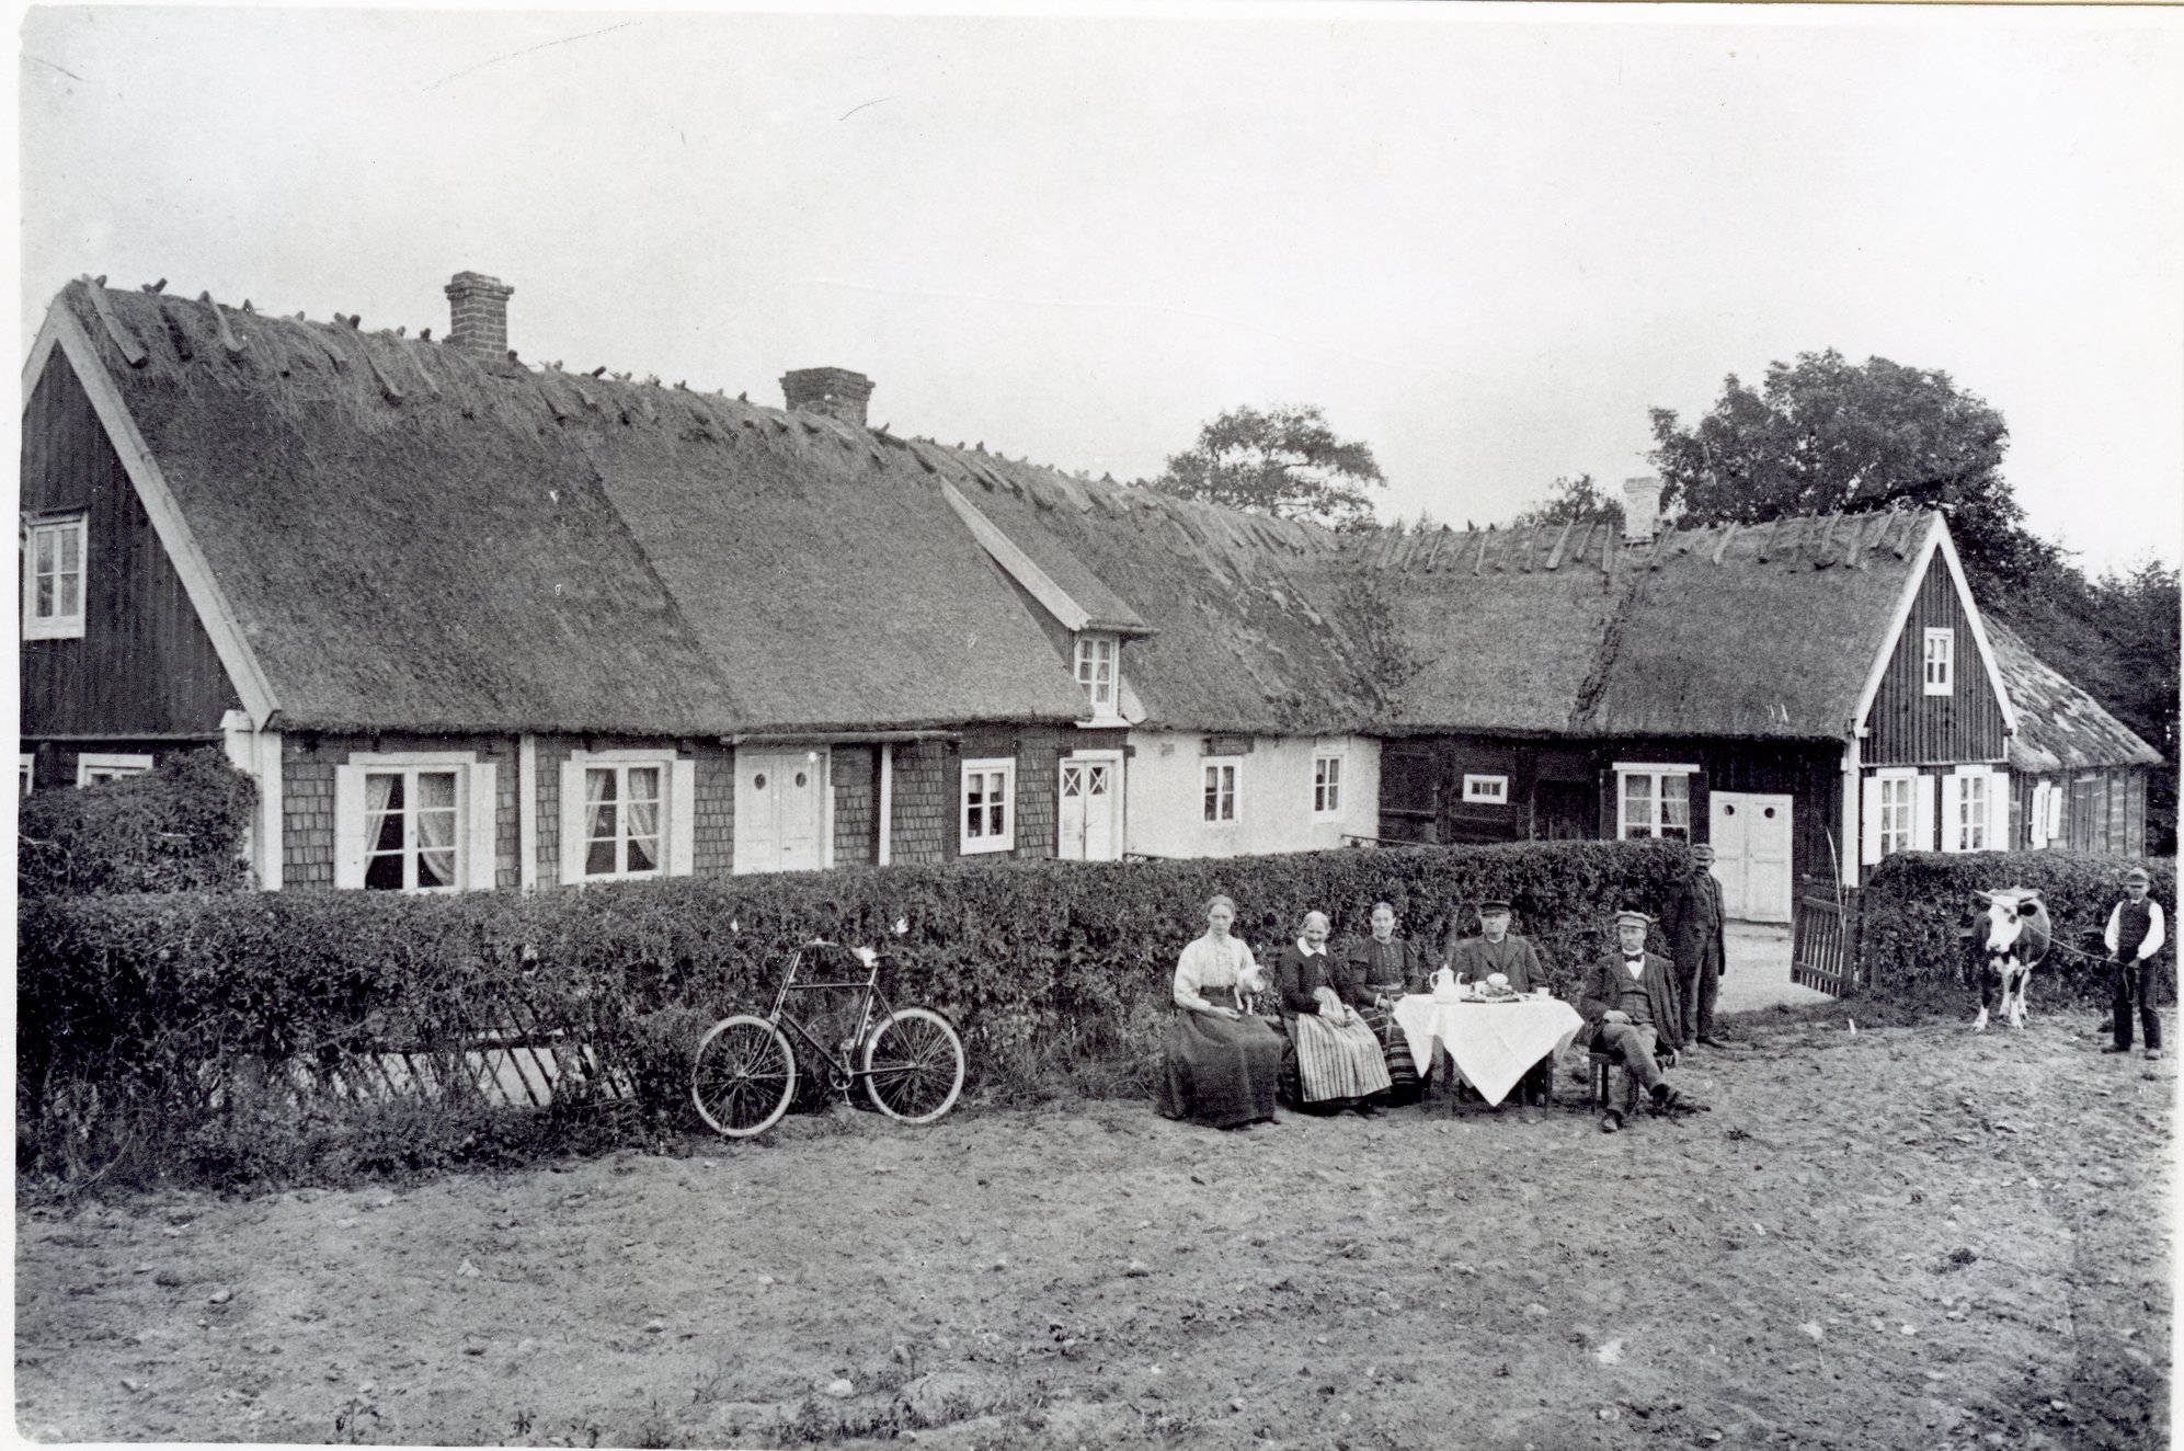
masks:
<path id="1" fill-rule="evenodd" d="M 1662 507 L 1699 524 L 1758 524 L 1791 514 L 1939 507 L 1966 568 L 1996 577 L 2053 566 L 2060 551 L 2025 533 L 2003 479 L 2009 428 L 1937 369 L 1887 358 L 1852 365 L 1837 350 L 1769 363 L 1760 391 L 1736 374 L 1695 428 L 1653 409 Z"/>

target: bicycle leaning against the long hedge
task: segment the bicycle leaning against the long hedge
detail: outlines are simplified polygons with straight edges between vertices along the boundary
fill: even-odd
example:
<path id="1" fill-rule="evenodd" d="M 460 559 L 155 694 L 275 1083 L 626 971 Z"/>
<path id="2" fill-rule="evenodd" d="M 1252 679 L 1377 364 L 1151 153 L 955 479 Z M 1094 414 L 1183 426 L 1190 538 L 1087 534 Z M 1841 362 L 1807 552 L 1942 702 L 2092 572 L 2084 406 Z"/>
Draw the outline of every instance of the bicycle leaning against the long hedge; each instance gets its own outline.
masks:
<path id="1" fill-rule="evenodd" d="M 895 931 L 904 929 L 898 924 Z M 865 979 L 797 981 L 806 955 L 821 953 L 854 957 L 865 964 Z M 858 992 L 856 1031 L 839 1045 L 839 1051 L 786 1012 L 791 992 L 826 988 Z M 957 1036 L 954 1023 L 930 1007 L 891 1005 L 880 992 L 880 953 L 874 948 L 845 948 L 812 937 L 788 957 L 788 972 L 773 994 L 771 1012 L 721 1018 L 699 1038 L 690 1062 L 690 1099 L 714 1132 L 749 1139 L 788 1112 L 797 1095 L 797 1053 L 782 1031 L 784 1025 L 826 1064 L 830 1090 L 847 1101 L 863 1084 L 871 1106 L 900 1123 L 933 1123 L 954 1108 L 963 1093 L 963 1038 Z"/>

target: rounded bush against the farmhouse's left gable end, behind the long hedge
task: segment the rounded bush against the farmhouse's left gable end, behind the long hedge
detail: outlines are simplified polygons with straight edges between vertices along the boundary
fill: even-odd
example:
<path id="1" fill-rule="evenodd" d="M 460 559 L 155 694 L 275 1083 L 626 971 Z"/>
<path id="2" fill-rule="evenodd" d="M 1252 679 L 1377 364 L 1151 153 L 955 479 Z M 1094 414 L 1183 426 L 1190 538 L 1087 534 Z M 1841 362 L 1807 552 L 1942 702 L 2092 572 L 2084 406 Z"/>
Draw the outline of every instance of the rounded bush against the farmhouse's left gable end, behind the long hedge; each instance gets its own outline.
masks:
<path id="1" fill-rule="evenodd" d="M 15 824 L 22 896 L 236 892 L 258 785 L 216 750 L 142 776 L 35 791 Z"/>

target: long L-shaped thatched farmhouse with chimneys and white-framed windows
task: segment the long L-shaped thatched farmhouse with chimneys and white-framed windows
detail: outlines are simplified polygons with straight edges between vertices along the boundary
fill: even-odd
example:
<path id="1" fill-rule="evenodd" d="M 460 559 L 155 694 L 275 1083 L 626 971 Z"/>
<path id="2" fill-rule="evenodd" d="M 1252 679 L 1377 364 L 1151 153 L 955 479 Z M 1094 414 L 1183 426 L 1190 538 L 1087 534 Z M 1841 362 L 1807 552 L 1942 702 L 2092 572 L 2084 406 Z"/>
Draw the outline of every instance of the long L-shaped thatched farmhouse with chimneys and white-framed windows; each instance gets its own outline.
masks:
<path id="1" fill-rule="evenodd" d="M 2153 752 L 1937 514 L 1332 535 L 871 428 L 847 369 L 526 367 L 509 295 L 430 341 L 63 288 L 26 789 L 225 743 L 266 887 L 1673 835 L 1787 920 L 1891 850 L 2140 846 Z"/>

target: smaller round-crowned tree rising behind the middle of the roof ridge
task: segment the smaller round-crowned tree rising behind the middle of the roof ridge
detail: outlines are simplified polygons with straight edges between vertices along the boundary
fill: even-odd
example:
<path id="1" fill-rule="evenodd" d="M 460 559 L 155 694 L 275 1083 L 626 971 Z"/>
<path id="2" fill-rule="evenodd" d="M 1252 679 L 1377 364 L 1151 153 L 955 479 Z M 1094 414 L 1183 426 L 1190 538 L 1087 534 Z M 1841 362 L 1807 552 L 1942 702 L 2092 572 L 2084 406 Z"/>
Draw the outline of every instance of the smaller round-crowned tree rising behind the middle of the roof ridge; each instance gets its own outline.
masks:
<path id="1" fill-rule="evenodd" d="M 1265 413 L 1230 409 L 1199 428 L 1197 446 L 1171 457 L 1151 487 L 1332 529 L 1369 529 L 1365 489 L 1387 487 L 1387 479 L 1369 446 L 1334 437 L 1324 411 L 1284 404 Z"/>

